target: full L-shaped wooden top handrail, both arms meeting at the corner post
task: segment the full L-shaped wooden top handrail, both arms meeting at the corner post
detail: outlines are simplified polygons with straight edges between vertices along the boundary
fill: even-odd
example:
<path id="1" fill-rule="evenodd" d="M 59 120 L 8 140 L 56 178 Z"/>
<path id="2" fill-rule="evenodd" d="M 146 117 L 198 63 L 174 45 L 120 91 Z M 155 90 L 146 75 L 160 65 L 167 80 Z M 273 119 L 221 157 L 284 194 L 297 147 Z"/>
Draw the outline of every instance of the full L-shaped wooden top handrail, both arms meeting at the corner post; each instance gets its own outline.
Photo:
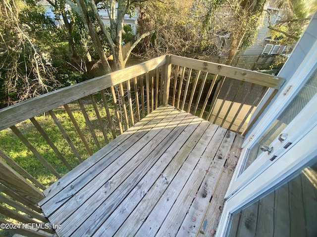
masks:
<path id="1" fill-rule="evenodd" d="M 167 60 L 168 59 L 168 60 Z M 169 61 L 169 62 L 167 62 Z M 279 89 L 285 79 L 280 77 L 266 75 L 255 71 L 235 68 L 227 65 L 206 62 L 197 59 L 190 59 L 176 55 L 163 55 L 158 58 L 131 66 L 110 74 L 90 79 L 75 85 L 67 86 L 53 92 L 26 100 L 15 105 L 0 110 L 0 130 L 13 126 L 28 118 L 33 118 L 39 114 L 50 111 L 56 107 L 78 100 L 85 96 L 91 95 L 105 88 L 122 83 L 128 79 L 138 77 L 149 71 L 168 63 L 165 73 L 170 73 L 170 65 L 179 65 L 186 68 L 200 70 L 219 76 L 239 79 L 242 81 L 252 82 L 255 84 L 268 86 Z M 169 70 L 168 70 L 169 69 Z M 164 75 L 165 77 L 167 75 Z M 168 80 L 169 81 L 169 80 Z M 169 83 L 165 83 L 164 87 Z M 164 88 L 167 90 L 167 88 Z M 168 91 L 166 91 L 168 98 Z M 167 101 L 164 98 L 164 101 Z"/>

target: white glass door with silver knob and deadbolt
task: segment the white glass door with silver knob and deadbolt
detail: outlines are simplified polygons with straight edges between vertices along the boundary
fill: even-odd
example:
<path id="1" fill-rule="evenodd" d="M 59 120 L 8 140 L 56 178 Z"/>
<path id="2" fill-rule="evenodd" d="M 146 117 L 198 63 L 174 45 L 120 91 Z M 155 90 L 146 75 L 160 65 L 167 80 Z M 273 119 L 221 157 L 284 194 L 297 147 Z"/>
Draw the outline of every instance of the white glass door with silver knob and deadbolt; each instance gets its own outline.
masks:
<path id="1" fill-rule="evenodd" d="M 226 197 L 234 195 L 261 174 L 314 125 L 315 120 L 312 119 L 317 109 L 316 62 L 306 70 L 298 70 L 288 84 L 287 91 L 281 91 L 274 106 L 271 106 L 272 111 L 266 113 L 264 122 L 261 122 L 264 127 L 258 125 L 254 132 L 256 135 L 246 139 Z"/>

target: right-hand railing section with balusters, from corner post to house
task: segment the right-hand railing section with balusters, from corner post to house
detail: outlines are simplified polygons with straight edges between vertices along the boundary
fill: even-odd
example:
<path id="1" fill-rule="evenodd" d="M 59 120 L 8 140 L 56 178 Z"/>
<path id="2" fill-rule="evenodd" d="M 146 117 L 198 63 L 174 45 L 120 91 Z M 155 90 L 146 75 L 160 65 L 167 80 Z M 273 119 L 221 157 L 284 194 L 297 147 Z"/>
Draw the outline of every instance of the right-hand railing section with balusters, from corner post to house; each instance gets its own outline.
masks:
<path id="1" fill-rule="evenodd" d="M 170 56 L 168 103 L 241 133 L 269 87 L 284 79 L 211 62 Z"/>

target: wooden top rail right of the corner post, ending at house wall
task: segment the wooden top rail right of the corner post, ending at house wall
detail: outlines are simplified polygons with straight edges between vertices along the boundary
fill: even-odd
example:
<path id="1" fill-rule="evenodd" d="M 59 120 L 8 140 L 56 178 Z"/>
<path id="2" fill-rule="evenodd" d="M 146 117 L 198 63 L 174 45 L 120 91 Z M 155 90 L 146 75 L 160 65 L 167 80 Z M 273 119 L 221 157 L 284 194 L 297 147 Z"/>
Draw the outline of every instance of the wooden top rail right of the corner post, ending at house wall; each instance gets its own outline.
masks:
<path id="1" fill-rule="evenodd" d="M 280 77 L 181 56 L 171 55 L 170 62 L 171 64 L 201 70 L 212 74 L 218 74 L 228 78 L 248 81 L 275 89 L 279 89 L 285 82 L 285 79 Z"/>

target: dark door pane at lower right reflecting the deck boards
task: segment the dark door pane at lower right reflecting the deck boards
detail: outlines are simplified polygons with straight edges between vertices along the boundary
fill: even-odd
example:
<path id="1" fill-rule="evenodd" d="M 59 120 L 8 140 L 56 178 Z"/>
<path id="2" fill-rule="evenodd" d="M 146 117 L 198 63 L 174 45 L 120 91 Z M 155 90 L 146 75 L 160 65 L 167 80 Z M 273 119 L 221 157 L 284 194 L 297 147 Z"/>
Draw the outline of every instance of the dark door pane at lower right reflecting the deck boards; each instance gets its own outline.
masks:
<path id="1" fill-rule="evenodd" d="M 226 237 L 317 237 L 317 157 L 230 217 Z"/>

